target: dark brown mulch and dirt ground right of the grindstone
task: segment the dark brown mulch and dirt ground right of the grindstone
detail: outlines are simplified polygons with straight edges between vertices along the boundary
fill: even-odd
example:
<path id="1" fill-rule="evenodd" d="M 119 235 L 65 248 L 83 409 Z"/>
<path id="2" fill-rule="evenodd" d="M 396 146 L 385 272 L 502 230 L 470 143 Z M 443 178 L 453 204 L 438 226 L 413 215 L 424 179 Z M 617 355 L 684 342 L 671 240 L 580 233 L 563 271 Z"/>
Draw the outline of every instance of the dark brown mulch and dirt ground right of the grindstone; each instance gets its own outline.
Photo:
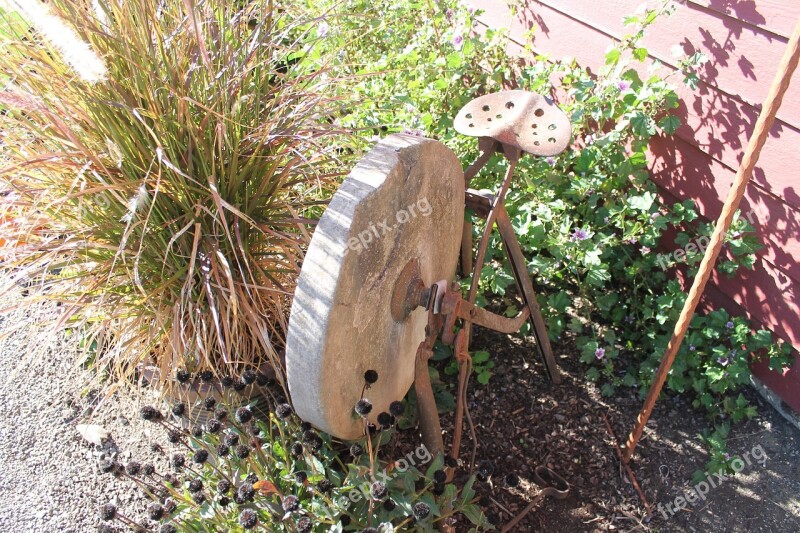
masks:
<path id="1" fill-rule="evenodd" d="M 674 514 L 669 509 L 675 498 L 688 493 L 694 472 L 708 459 L 698 434 L 710 423 L 683 398 L 662 395 L 632 462 L 653 510 L 647 517 L 603 420 L 605 413 L 624 439 L 641 408 L 638 397 L 621 389 L 613 398 L 602 398 L 583 378 L 585 368 L 569 340 L 554 345 L 564 377 L 558 386 L 545 377 L 531 341 L 521 336 L 479 329 L 471 348 L 489 351 L 497 364 L 488 385 L 473 379 L 469 398 L 477 463 L 492 472 L 476 486 L 489 504 L 487 514 L 499 525 L 536 496 L 532 475 L 537 465 L 546 464 L 570 483 L 571 493 L 564 500 L 540 502 L 515 531 L 800 531 L 800 432 L 755 390 L 748 388 L 745 396 L 759 415 L 734 426 L 728 447 L 732 456 L 765 455 L 764 464 L 745 464 L 736 476 L 715 483 L 705 501 Z M 446 428 L 451 418 L 443 420 Z M 462 457 L 472 448 L 465 433 Z M 516 487 L 513 476 L 507 479 L 510 474 L 519 478 Z"/>

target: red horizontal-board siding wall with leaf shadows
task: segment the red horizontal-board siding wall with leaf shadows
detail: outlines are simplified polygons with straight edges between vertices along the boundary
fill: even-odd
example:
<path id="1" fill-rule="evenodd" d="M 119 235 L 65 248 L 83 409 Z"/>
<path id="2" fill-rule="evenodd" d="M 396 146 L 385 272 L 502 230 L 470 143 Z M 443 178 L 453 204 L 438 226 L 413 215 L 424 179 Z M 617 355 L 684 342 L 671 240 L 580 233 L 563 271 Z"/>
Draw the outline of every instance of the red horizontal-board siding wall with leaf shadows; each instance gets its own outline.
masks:
<path id="1" fill-rule="evenodd" d="M 487 26 L 508 28 L 516 43 L 535 29 L 533 48 L 553 59 L 575 57 L 597 69 L 608 46 L 625 33 L 623 18 L 642 0 L 527 0 L 512 18 L 506 2 L 465 0 L 483 9 Z M 653 2 L 650 2 L 653 4 Z M 684 125 L 658 139 L 651 167 L 665 196 L 694 199 L 714 220 L 733 182 L 744 146 L 767 95 L 785 43 L 800 16 L 797 0 L 685 0 L 651 28 L 645 46 L 674 68 L 671 49 L 704 52 L 697 91 L 681 88 Z M 514 47 L 512 52 L 521 48 Z M 789 88 L 742 203 L 765 248 L 754 271 L 733 279 L 714 276 L 709 300 L 745 314 L 800 349 L 800 73 Z M 786 375 L 756 374 L 800 411 L 800 364 Z"/>

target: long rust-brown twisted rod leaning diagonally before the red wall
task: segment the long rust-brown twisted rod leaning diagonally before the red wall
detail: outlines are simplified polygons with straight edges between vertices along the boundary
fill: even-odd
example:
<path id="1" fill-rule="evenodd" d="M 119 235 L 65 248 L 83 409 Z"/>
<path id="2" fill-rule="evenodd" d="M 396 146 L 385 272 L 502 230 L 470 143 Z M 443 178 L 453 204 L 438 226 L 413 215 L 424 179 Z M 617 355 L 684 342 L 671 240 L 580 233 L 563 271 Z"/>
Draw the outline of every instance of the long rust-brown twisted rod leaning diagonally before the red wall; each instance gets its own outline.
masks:
<path id="1" fill-rule="evenodd" d="M 636 444 L 642 436 L 642 431 L 644 431 L 644 426 L 647 424 L 647 420 L 653 412 L 653 407 L 667 379 L 669 369 L 675 360 L 675 355 L 678 353 L 681 342 L 683 342 L 686 330 L 689 328 L 689 322 L 691 322 L 694 316 L 697 304 L 700 302 L 700 297 L 703 295 L 706 283 L 708 283 L 708 278 L 711 276 L 714 264 L 717 262 L 717 257 L 725 241 L 725 235 L 731 226 L 733 216 L 739 208 L 739 203 L 744 196 L 745 188 L 753 174 L 753 167 L 755 167 L 758 162 L 758 156 L 761 154 L 761 149 L 764 147 L 764 143 L 767 140 L 769 130 L 775 122 L 775 115 L 781 106 L 783 95 L 789 88 L 792 74 L 797 68 L 798 61 L 800 61 L 799 43 L 800 19 L 798 19 L 794 33 L 786 46 L 786 51 L 778 67 L 775 80 L 772 82 L 772 87 L 770 87 L 769 94 L 764 102 L 764 107 L 761 109 L 761 113 L 758 116 L 753 135 L 750 137 L 750 141 L 747 144 L 744 158 L 742 158 L 742 163 L 739 166 L 739 170 L 736 172 L 736 177 L 733 180 L 733 186 L 728 193 L 728 197 L 725 199 L 725 205 L 722 206 L 722 212 L 714 227 L 714 234 L 711 236 L 711 242 L 703 256 L 703 261 L 700 263 L 700 269 L 697 272 L 697 276 L 694 278 L 689 296 L 686 298 L 686 303 L 683 305 L 680 317 L 678 317 L 678 322 L 675 324 L 675 330 L 667 345 L 664 357 L 661 359 L 661 365 L 658 367 L 653 384 L 650 386 L 650 391 L 647 393 L 647 399 L 644 402 L 642 410 L 639 412 L 633 431 L 631 431 L 631 434 L 628 436 L 624 453 L 624 462 L 626 464 L 630 462 L 633 451 L 636 449 Z"/>

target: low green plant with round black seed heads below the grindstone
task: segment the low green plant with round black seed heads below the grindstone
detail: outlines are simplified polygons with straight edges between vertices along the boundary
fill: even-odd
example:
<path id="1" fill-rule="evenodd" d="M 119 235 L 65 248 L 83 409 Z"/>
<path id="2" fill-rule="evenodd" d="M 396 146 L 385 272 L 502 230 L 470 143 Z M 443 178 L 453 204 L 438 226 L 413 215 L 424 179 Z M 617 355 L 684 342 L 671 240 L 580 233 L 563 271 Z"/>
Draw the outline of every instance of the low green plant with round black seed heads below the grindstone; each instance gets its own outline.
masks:
<path id="1" fill-rule="evenodd" d="M 267 376 L 251 377 L 250 386 L 280 400 L 282 390 Z M 175 404 L 168 414 L 141 410 L 166 437 L 158 443 L 165 464 L 133 460 L 102 469 L 135 483 L 153 503 L 147 517 L 109 505 L 101 506 L 101 517 L 162 532 L 434 531 L 456 513 L 476 531 L 488 527 L 473 501 L 474 478 L 460 490 L 448 483 L 444 457 L 398 443 L 393 423 L 342 444 L 297 420 L 288 404 L 272 403 L 264 413 L 229 408 L 241 403 L 230 389 L 215 397 Z M 402 415 L 397 407 L 394 413 Z"/>

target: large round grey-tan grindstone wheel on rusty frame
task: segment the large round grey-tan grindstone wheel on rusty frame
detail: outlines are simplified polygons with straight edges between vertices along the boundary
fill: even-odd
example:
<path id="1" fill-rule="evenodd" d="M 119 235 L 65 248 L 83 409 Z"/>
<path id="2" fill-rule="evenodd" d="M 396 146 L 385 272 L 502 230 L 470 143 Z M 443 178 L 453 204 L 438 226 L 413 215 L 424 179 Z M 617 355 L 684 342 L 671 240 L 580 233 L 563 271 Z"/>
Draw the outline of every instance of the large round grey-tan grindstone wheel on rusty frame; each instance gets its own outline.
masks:
<path id="1" fill-rule="evenodd" d="M 427 311 L 391 315 L 395 281 L 417 259 L 426 286 L 452 280 L 464 224 L 464 174 L 450 149 L 391 135 L 353 169 L 314 231 L 297 282 L 286 341 L 295 411 L 341 439 L 363 435 L 354 416 L 364 373 L 369 420 L 405 397 Z"/>

